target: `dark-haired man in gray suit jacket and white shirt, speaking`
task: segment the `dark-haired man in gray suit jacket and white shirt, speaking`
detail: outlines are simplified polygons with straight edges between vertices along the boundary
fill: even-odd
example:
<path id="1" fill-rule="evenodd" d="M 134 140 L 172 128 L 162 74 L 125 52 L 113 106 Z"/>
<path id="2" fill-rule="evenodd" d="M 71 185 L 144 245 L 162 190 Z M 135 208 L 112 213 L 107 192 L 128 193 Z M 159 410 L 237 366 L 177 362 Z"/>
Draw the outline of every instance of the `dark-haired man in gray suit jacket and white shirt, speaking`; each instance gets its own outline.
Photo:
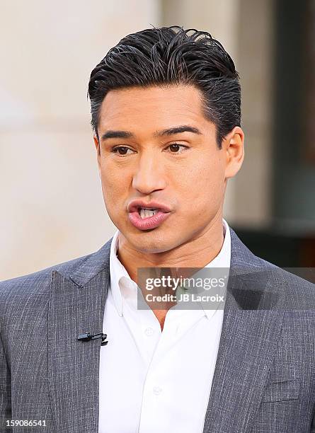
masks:
<path id="1" fill-rule="evenodd" d="M 229 54 L 205 32 L 143 30 L 93 69 L 88 95 L 118 231 L 1 283 L 3 431 L 315 432 L 314 285 L 222 217 L 244 160 Z M 224 309 L 137 308 L 139 268 L 227 269 Z"/>

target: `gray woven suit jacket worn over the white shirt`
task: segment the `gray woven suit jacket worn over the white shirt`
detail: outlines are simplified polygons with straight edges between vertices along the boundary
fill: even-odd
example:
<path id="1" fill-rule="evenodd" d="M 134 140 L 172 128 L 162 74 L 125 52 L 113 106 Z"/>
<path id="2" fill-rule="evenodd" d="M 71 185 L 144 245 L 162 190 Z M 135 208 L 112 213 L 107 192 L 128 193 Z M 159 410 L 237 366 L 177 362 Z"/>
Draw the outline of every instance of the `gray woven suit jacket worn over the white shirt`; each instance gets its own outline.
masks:
<path id="1" fill-rule="evenodd" d="M 108 346 L 77 336 L 102 332 L 110 242 L 0 283 L 3 419 L 45 420 L 47 427 L 30 429 L 37 432 L 98 432 L 99 357 Z M 205 433 L 315 432 L 314 299 L 314 284 L 256 257 L 231 230 Z"/>

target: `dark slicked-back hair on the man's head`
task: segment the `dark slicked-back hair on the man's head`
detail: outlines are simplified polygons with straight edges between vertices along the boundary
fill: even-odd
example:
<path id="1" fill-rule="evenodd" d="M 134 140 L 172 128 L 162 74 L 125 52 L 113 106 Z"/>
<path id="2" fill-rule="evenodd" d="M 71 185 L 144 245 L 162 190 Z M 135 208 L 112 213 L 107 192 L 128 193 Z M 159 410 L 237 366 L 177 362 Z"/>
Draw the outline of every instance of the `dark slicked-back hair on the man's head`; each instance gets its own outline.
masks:
<path id="1" fill-rule="evenodd" d="M 234 62 L 210 33 L 178 25 L 149 28 L 123 37 L 91 72 L 91 125 L 106 94 L 118 88 L 194 85 L 205 117 L 216 125 L 217 144 L 241 126 L 241 86 Z"/>

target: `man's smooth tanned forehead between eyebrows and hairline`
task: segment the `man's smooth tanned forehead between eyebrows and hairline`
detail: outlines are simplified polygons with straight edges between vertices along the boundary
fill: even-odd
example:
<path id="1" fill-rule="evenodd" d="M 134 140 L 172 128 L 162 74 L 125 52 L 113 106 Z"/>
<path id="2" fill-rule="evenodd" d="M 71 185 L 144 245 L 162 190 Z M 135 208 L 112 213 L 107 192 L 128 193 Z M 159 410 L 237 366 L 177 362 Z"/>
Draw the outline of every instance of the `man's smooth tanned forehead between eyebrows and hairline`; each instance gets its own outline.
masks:
<path id="1" fill-rule="evenodd" d="M 195 86 L 132 87 L 108 92 L 99 112 L 98 130 L 156 130 L 188 123 L 199 127 L 210 123 L 203 114 L 202 93 Z"/>

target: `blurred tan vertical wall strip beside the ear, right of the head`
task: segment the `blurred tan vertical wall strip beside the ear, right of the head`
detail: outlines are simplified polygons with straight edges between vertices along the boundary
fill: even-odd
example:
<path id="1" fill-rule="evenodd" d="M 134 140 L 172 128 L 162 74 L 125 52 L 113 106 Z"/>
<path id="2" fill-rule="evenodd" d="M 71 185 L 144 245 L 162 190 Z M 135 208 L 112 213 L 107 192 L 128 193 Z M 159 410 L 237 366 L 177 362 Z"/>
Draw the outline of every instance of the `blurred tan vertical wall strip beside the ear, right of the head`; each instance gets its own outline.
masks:
<path id="1" fill-rule="evenodd" d="M 239 55 L 245 159 L 234 179 L 231 220 L 246 228 L 272 221 L 275 0 L 239 0 Z"/>

